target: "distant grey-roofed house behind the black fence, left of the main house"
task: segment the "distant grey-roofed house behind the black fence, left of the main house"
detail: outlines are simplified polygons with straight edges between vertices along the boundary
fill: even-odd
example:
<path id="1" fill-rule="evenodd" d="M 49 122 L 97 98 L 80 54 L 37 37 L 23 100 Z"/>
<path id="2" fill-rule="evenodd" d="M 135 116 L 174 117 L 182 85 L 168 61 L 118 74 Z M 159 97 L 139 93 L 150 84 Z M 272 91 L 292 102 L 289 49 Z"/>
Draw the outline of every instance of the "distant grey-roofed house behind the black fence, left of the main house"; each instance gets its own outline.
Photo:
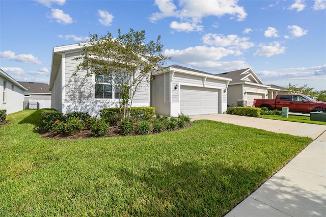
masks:
<path id="1" fill-rule="evenodd" d="M 30 103 L 28 102 L 37 103 L 38 106 L 36 108 L 51 107 L 51 91 L 50 86 L 48 84 L 38 82 L 18 83 L 27 89 L 27 91 L 25 91 L 24 108 L 30 105 Z"/>

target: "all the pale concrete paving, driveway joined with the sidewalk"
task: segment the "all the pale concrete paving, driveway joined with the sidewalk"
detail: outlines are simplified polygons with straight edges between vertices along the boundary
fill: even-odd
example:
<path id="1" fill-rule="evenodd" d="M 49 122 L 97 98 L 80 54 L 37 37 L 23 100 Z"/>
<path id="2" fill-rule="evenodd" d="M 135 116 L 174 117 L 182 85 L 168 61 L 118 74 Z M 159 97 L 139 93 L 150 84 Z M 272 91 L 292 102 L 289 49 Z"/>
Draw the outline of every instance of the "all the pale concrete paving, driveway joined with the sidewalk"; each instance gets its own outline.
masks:
<path id="1" fill-rule="evenodd" d="M 190 117 L 314 139 L 226 217 L 326 216 L 326 126 L 225 114 Z"/>

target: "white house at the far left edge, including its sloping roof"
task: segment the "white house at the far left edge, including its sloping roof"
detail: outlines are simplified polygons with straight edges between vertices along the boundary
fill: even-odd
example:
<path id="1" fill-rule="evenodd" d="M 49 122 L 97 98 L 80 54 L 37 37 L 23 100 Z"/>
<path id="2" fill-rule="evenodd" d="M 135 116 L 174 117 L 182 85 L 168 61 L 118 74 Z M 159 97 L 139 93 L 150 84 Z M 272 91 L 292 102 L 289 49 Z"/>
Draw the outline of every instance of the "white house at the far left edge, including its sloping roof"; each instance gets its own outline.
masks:
<path id="1" fill-rule="evenodd" d="M 0 69 L 0 110 L 7 110 L 7 114 L 23 110 L 24 91 L 22 85 Z"/>

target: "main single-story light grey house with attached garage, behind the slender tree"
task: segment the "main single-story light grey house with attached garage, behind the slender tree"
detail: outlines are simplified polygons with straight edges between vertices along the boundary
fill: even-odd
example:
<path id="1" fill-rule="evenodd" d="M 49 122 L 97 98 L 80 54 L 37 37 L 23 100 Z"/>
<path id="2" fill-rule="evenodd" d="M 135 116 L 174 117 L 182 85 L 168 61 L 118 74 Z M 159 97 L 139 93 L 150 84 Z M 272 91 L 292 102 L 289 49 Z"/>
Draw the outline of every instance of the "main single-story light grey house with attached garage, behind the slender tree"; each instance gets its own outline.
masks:
<path id="1" fill-rule="evenodd" d="M 86 77 L 87 71 L 80 71 L 73 76 L 82 61 L 74 58 L 82 52 L 83 47 L 78 44 L 53 47 L 51 104 L 62 113 L 83 111 L 97 116 L 102 108 L 119 106 L 119 88 L 104 75 Z M 154 106 L 157 114 L 168 116 L 216 114 L 227 110 L 230 78 L 177 65 L 157 70 L 152 76 L 152 84 L 143 82 L 137 90 L 132 106 Z"/>

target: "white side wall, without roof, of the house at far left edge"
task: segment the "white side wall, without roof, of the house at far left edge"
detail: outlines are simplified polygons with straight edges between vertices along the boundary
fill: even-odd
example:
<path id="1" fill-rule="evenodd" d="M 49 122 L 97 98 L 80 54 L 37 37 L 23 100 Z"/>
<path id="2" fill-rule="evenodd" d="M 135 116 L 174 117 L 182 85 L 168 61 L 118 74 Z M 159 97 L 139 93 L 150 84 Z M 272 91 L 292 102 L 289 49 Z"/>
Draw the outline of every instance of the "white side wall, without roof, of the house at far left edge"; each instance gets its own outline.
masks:
<path id="1" fill-rule="evenodd" d="M 4 81 L 7 83 L 6 101 L 4 101 Z M 13 90 L 12 90 L 13 86 Z M 7 114 L 23 110 L 24 90 L 5 77 L 0 76 L 0 110 L 7 110 Z"/>

